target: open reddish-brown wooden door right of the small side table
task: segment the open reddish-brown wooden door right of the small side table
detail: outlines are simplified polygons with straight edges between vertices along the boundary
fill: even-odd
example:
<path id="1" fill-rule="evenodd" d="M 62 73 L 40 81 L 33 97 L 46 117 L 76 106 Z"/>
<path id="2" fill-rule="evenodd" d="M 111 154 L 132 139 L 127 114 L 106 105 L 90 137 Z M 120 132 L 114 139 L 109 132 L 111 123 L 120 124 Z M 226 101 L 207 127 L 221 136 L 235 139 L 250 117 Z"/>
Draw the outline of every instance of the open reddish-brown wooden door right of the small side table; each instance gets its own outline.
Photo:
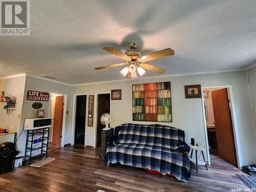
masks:
<path id="1" fill-rule="evenodd" d="M 219 155 L 237 166 L 227 89 L 211 92 Z"/>

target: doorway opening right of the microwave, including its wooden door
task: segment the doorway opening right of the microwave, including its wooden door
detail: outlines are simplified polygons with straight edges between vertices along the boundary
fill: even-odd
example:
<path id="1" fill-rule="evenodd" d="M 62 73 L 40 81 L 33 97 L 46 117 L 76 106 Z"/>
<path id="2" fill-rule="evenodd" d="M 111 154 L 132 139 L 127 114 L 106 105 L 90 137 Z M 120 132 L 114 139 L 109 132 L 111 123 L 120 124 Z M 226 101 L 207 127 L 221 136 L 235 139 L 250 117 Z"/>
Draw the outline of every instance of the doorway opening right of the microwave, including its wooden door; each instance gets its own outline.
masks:
<path id="1" fill-rule="evenodd" d="M 53 119 L 53 122 L 49 134 L 49 145 L 51 145 L 52 148 L 61 145 L 64 103 L 64 95 L 51 93 L 50 117 Z"/>

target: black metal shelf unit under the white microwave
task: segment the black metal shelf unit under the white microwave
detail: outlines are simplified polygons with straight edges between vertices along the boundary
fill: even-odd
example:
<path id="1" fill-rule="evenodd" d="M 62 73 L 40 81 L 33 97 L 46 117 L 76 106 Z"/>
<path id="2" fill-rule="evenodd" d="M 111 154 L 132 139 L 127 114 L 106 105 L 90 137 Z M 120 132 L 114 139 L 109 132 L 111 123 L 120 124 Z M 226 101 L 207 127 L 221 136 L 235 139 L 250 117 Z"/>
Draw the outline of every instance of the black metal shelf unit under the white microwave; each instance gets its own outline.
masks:
<path id="1" fill-rule="evenodd" d="M 31 164 L 32 161 L 38 158 L 47 157 L 48 140 L 49 127 L 37 130 L 28 130 L 25 161 L 29 161 L 29 164 Z"/>

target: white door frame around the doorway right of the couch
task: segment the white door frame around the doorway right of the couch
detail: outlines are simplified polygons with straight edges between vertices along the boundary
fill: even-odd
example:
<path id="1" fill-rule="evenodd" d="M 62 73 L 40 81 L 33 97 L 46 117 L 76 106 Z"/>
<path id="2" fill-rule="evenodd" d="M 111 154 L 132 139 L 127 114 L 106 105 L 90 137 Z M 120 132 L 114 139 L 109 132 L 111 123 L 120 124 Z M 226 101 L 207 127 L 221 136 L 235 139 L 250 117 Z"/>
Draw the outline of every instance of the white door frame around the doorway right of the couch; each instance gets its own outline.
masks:
<path id="1" fill-rule="evenodd" d="M 232 119 L 232 127 L 233 127 L 233 134 L 234 134 L 234 146 L 236 147 L 236 155 L 237 155 L 237 163 L 238 167 L 241 167 L 241 153 L 240 153 L 240 142 L 238 136 L 238 125 L 237 125 L 237 117 L 236 117 L 236 108 L 234 105 L 233 99 L 233 91 L 232 86 L 203 86 L 201 87 L 201 93 L 203 93 L 204 89 L 227 89 L 229 100 L 230 100 L 230 112 L 231 112 L 231 119 Z M 202 96 L 202 110 L 203 110 L 203 121 L 204 121 L 204 134 L 205 134 L 205 142 L 206 142 L 206 152 L 207 152 L 207 159 L 208 164 L 210 165 L 210 152 L 209 152 L 209 145 L 208 145 L 208 135 L 207 135 L 207 123 L 205 118 L 205 109 L 204 109 L 204 97 Z"/>

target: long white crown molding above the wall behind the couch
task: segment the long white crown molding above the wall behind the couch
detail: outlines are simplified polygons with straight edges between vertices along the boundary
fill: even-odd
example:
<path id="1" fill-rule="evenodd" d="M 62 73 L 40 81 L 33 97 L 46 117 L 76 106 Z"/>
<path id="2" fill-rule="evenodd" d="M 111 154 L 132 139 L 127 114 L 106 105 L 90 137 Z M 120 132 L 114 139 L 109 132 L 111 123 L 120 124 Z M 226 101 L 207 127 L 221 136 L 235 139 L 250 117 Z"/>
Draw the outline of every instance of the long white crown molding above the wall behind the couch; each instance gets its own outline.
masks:
<path id="1" fill-rule="evenodd" d="M 205 74 L 215 74 L 215 73 L 228 73 L 228 72 L 236 72 L 236 71 L 245 71 L 245 68 L 233 69 L 233 70 L 221 70 L 221 71 L 205 71 L 199 73 L 182 73 L 182 74 L 173 74 L 173 75 L 161 75 L 161 76 L 150 76 L 150 77 L 139 77 L 139 78 L 125 78 L 119 80 L 110 80 L 110 81 L 98 81 L 98 82 L 89 82 L 89 83 L 81 83 L 81 84 L 72 84 L 71 86 L 89 86 L 91 84 L 102 84 L 102 83 L 112 83 L 112 82 L 120 82 L 120 81 L 132 81 L 139 79 L 154 79 L 154 78 L 166 78 L 166 77 L 180 77 L 180 76 L 190 76 L 190 75 L 205 75 Z"/>

